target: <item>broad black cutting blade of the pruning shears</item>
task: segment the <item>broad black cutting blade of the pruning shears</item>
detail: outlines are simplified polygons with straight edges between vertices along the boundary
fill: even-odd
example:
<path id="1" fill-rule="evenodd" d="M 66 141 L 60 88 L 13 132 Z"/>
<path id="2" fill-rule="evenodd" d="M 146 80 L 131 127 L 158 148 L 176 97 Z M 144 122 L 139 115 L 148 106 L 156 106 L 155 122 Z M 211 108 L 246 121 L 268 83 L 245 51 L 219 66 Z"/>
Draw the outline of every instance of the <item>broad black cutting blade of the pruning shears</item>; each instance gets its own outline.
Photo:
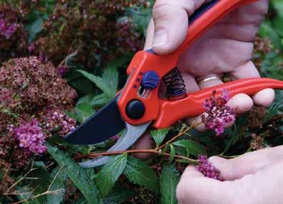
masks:
<path id="1" fill-rule="evenodd" d="M 71 144 L 96 144 L 115 136 L 124 128 L 125 122 L 120 117 L 117 98 L 115 98 L 68 134 L 65 140 Z"/>

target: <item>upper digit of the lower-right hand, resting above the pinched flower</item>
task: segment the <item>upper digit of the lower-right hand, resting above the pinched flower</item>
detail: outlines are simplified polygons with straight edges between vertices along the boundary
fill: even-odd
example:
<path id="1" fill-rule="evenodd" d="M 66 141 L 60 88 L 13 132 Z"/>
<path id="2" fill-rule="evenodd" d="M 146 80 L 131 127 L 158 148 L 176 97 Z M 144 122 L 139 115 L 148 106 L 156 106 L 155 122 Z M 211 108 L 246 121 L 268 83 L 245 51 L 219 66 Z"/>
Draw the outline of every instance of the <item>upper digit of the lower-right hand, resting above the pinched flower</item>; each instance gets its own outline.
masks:
<path id="1" fill-rule="evenodd" d="M 224 181 L 234 181 L 282 160 L 283 146 L 249 152 L 235 159 L 223 159 L 218 156 L 212 156 L 209 159 L 212 165 L 220 171 L 220 177 Z"/>

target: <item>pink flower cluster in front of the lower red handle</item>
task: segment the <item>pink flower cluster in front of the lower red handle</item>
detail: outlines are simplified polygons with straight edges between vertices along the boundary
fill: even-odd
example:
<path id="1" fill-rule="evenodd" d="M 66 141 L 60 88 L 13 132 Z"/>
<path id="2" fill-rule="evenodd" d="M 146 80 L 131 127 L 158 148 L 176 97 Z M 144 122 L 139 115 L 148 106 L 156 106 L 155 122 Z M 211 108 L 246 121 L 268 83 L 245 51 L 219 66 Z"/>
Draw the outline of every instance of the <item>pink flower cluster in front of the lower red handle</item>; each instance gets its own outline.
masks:
<path id="1" fill-rule="evenodd" d="M 222 90 L 222 95 L 216 96 L 216 91 L 212 92 L 212 97 L 206 99 L 203 107 L 205 114 L 202 115 L 202 122 L 207 129 L 215 130 L 217 136 L 225 131 L 226 124 L 235 121 L 234 110 L 227 106 L 230 100 L 227 90 Z"/>

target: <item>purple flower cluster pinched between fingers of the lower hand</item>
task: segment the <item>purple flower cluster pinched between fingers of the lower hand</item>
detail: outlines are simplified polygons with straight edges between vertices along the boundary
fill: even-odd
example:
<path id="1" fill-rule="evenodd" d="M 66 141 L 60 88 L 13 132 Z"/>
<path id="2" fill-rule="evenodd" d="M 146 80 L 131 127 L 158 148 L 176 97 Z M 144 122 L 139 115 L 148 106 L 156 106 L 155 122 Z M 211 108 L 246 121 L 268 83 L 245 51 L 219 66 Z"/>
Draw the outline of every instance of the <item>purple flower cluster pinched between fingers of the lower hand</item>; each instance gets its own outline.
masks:
<path id="1" fill-rule="evenodd" d="M 198 165 L 195 166 L 197 171 L 200 171 L 203 175 L 208 178 L 214 178 L 220 180 L 220 171 L 218 171 L 215 166 L 212 166 L 212 163 L 208 161 L 207 156 L 200 155 L 198 156 Z"/>

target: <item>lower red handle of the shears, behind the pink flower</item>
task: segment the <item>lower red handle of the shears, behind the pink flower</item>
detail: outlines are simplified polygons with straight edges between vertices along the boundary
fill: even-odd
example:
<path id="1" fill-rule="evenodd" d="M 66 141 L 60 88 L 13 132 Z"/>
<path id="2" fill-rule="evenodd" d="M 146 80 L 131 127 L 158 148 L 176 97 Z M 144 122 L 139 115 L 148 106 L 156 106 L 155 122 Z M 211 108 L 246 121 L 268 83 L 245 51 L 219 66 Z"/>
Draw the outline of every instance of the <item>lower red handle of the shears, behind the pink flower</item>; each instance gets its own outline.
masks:
<path id="1" fill-rule="evenodd" d="M 269 78 L 247 78 L 242 80 L 235 80 L 227 82 L 223 85 L 209 87 L 198 92 L 188 93 L 187 97 L 178 101 L 160 100 L 160 113 L 158 119 L 153 124 L 155 128 L 165 128 L 178 122 L 180 119 L 186 117 L 194 117 L 205 109 L 202 107 L 206 98 L 212 96 L 212 91 L 216 90 L 217 95 L 220 95 L 223 89 L 227 90 L 230 97 L 240 93 L 245 93 L 249 96 L 267 89 L 281 89 L 283 90 L 283 81 Z"/>

